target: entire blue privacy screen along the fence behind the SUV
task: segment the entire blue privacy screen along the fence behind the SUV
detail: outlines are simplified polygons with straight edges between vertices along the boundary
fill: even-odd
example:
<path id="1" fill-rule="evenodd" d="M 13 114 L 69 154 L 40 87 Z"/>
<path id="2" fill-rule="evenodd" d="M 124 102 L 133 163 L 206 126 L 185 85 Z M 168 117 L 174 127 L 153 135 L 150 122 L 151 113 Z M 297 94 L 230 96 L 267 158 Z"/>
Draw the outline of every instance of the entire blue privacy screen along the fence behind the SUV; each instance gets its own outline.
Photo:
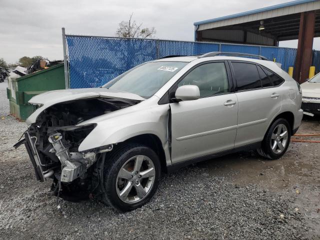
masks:
<path id="1" fill-rule="evenodd" d="M 210 51 L 258 54 L 282 64 L 287 71 L 294 65 L 296 49 L 227 43 L 128 39 L 66 35 L 70 88 L 99 87 L 124 71 L 145 61 L 167 55 L 196 55 Z M 318 71 L 320 54 L 313 53 Z"/>

